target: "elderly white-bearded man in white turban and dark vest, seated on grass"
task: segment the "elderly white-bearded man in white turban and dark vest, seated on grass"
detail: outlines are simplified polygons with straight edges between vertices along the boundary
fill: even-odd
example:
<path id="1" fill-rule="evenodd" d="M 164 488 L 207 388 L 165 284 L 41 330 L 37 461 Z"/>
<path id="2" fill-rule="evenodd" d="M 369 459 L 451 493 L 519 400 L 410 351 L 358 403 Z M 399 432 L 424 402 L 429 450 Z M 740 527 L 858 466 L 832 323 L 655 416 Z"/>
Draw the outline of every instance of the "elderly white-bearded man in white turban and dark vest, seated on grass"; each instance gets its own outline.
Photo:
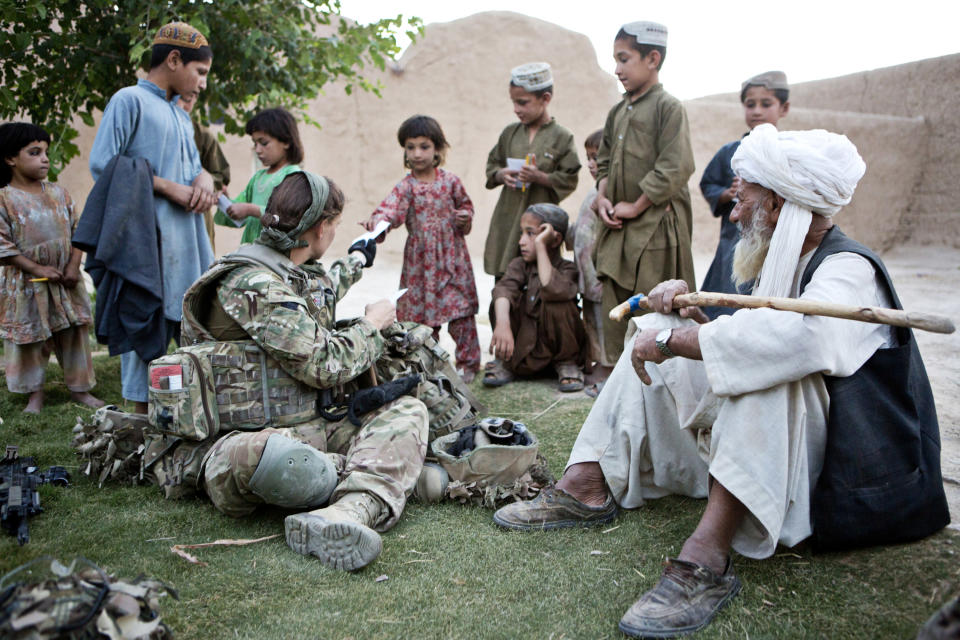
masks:
<path id="1" fill-rule="evenodd" d="M 756 295 L 899 306 L 882 262 L 833 226 L 865 166 L 844 136 L 756 127 L 733 157 L 742 185 L 734 276 Z M 620 621 L 632 636 L 702 628 L 740 589 L 730 549 L 766 558 L 916 539 L 949 522 L 939 428 L 909 330 L 772 309 L 707 322 L 657 285 L 556 487 L 500 509 L 519 530 L 609 522 L 617 505 L 708 496 L 678 558 Z M 682 317 L 681 317 L 682 316 Z M 674 357 L 676 356 L 676 357 Z"/>

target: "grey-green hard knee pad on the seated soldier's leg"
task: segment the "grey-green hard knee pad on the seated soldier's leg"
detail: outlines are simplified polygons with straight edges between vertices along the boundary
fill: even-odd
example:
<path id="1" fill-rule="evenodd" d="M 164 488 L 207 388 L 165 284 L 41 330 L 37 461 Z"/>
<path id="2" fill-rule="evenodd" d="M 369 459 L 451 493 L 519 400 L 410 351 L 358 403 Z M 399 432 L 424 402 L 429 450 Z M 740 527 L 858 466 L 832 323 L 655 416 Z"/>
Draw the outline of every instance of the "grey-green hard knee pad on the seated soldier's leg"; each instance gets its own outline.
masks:
<path id="1" fill-rule="evenodd" d="M 325 453 L 277 433 L 250 478 L 250 490 L 264 502 L 291 509 L 325 503 L 336 486 L 337 468 Z"/>

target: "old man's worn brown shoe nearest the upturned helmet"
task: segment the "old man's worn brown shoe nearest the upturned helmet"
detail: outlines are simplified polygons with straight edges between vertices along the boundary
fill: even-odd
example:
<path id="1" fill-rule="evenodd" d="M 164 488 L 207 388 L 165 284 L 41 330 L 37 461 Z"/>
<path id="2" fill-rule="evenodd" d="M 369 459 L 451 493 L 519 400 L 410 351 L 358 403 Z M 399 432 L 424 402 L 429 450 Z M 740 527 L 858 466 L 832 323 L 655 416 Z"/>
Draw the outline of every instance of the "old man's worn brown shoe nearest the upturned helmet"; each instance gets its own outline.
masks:
<path id="1" fill-rule="evenodd" d="M 606 524 L 617 516 L 613 497 L 600 507 L 591 507 L 554 486 L 544 487 L 533 500 L 514 502 L 497 510 L 493 521 L 504 529 L 540 531 Z"/>

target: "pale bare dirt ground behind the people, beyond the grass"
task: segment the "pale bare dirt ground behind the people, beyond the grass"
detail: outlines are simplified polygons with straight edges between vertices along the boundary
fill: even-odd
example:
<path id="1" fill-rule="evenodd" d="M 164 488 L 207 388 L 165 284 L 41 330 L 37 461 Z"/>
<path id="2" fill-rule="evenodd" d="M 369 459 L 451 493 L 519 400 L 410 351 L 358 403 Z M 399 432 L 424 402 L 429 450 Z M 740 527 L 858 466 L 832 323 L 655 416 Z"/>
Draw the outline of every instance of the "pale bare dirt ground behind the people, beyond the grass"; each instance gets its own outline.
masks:
<path id="1" fill-rule="evenodd" d="M 711 255 L 696 256 L 696 272 L 706 273 Z M 951 291 L 960 291 L 960 249 L 931 246 L 901 246 L 884 256 L 884 262 L 893 278 L 904 308 L 938 313 L 960 324 L 960 297 Z M 338 307 L 342 318 L 363 313 L 366 302 L 396 291 L 400 282 L 402 258 L 397 254 L 378 256 L 375 266 L 364 274 Z M 483 273 L 474 260 L 477 291 L 480 296 L 480 314 L 477 330 L 484 360 L 492 330 L 487 318 L 493 278 Z M 944 488 L 950 502 L 952 525 L 960 528 L 960 333 L 942 335 L 916 331 L 920 352 L 930 376 L 940 419 L 940 437 L 943 445 L 941 465 Z M 441 345 L 453 353 L 453 341 L 441 333 Z"/>

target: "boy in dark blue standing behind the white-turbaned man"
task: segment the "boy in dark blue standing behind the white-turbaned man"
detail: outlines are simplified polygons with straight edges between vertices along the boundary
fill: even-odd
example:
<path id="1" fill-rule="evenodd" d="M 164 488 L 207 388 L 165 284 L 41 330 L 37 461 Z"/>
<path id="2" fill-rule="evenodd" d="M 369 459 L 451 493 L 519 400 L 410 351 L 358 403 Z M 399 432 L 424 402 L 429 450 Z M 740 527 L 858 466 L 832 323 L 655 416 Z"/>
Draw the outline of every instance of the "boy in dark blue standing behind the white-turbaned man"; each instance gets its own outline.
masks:
<path id="1" fill-rule="evenodd" d="M 740 87 L 740 103 L 743 105 L 743 118 L 750 131 L 764 123 L 777 126 L 780 118 L 790 111 L 787 75 L 782 71 L 767 71 L 746 80 Z M 730 159 L 739 147 L 739 140 L 720 147 L 700 179 L 703 197 L 710 204 L 714 217 L 720 218 L 720 242 L 717 244 L 717 252 L 710 263 L 710 269 L 703 279 L 703 286 L 700 287 L 702 291 L 750 293 L 749 284 L 744 284 L 743 290 L 738 290 L 733 284 L 733 253 L 737 241 L 740 240 L 740 231 L 736 224 L 730 222 L 730 212 L 736 205 L 740 179 L 733 173 Z M 714 320 L 717 316 L 733 313 L 735 309 L 704 307 L 703 311 Z"/>

